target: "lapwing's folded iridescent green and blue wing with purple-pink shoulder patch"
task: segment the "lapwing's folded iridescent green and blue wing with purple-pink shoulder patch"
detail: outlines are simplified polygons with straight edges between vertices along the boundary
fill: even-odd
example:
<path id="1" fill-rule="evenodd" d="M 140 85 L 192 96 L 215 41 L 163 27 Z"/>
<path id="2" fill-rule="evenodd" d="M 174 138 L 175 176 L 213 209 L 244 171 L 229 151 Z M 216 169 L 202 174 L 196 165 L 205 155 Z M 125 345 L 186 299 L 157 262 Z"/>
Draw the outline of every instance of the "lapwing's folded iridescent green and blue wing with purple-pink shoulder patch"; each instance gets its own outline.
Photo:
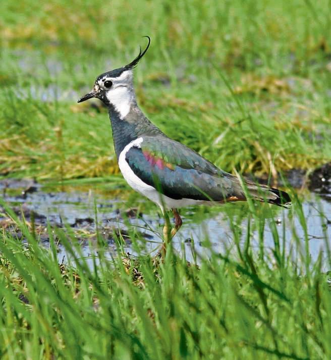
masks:
<path id="1" fill-rule="evenodd" d="M 167 137 L 143 137 L 126 161 L 144 183 L 174 199 L 223 201 L 241 190 L 235 177 Z"/>

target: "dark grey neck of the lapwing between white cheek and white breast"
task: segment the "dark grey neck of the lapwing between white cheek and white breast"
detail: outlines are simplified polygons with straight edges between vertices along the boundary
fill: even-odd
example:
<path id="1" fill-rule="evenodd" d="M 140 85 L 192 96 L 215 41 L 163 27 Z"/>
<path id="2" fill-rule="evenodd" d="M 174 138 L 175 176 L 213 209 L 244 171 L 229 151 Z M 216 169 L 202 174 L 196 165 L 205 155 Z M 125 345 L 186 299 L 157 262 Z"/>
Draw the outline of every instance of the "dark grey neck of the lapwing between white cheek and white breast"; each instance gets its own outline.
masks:
<path id="1" fill-rule="evenodd" d="M 142 135 L 164 135 L 160 129 L 146 118 L 136 102 L 133 102 L 129 113 L 124 118 L 121 118 L 119 112 L 113 106 L 108 107 L 108 112 L 111 118 L 117 160 L 119 160 L 124 147 L 138 137 Z"/>

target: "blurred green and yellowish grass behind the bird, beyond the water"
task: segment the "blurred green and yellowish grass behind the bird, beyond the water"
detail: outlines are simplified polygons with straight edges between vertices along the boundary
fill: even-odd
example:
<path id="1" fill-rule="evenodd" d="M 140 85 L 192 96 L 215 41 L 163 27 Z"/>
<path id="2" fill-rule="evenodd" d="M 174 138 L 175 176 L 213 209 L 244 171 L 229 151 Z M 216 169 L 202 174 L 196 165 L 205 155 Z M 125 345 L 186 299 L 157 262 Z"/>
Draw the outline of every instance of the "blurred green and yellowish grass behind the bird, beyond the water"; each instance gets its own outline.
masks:
<path id="1" fill-rule="evenodd" d="M 131 61 L 139 104 L 227 171 L 275 175 L 331 159 L 328 0 L 2 2 L 0 174 L 118 172 L 107 114 L 77 105 Z"/>

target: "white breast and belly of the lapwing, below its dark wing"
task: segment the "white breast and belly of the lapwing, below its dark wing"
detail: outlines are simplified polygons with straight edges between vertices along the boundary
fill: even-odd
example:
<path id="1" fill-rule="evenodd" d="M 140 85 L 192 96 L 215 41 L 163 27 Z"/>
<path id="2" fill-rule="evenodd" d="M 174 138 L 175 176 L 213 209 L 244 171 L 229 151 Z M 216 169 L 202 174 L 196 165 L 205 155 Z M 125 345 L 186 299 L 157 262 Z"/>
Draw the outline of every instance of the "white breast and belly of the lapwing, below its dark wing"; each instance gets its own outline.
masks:
<path id="1" fill-rule="evenodd" d="M 141 148 L 141 143 L 143 142 L 143 138 L 139 137 L 136 140 L 131 141 L 128 145 L 124 147 L 119 156 L 119 167 L 121 173 L 127 183 L 136 191 L 141 193 L 142 195 L 149 198 L 151 201 L 155 202 L 161 208 L 163 212 L 163 205 L 166 209 L 173 208 L 183 208 L 190 205 L 197 205 L 206 203 L 203 200 L 193 200 L 193 199 L 172 199 L 166 195 L 160 194 L 154 187 L 144 183 L 130 168 L 128 162 L 126 161 L 126 154 L 132 147 Z M 162 196 L 162 199 L 161 199 Z M 163 200 L 163 201 L 162 201 Z M 210 202 L 210 201 L 207 201 Z"/>

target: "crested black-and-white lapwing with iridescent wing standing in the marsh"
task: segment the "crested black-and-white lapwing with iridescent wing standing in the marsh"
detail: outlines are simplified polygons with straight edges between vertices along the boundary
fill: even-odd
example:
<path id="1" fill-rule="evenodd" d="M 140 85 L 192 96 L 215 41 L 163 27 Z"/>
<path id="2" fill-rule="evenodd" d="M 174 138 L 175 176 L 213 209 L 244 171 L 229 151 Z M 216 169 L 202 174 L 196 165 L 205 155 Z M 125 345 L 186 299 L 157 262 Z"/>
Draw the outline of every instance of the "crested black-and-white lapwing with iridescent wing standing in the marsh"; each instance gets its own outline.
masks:
<path id="1" fill-rule="evenodd" d="M 246 200 L 247 192 L 258 201 L 281 206 L 289 203 L 291 199 L 285 191 L 255 184 L 217 168 L 148 120 L 137 105 L 133 86 L 133 69 L 150 44 L 149 36 L 146 37 L 148 44 L 143 52 L 140 48 L 130 64 L 99 75 L 92 91 L 78 102 L 96 97 L 106 105 L 119 168 L 125 180 L 159 205 L 162 213 L 173 211 L 175 227 L 170 231 L 166 221 L 163 228 L 166 242 L 182 225 L 178 208 L 242 201 Z"/>

